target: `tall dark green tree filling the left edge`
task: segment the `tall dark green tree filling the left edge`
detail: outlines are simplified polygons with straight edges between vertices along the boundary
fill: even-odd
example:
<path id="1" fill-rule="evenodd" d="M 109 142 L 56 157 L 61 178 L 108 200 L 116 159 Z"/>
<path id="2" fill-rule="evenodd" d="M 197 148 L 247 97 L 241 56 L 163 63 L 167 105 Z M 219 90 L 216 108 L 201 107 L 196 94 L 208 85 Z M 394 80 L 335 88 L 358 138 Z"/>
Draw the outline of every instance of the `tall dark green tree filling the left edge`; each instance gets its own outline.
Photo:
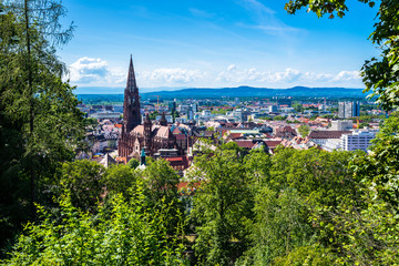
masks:
<path id="1" fill-rule="evenodd" d="M 7 184 L 0 190 L 0 212 L 11 226 L 1 232 L 12 232 L 34 216 L 34 202 L 51 201 L 58 164 L 73 158 L 84 126 L 55 55 L 55 45 L 66 42 L 73 28 L 61 29 L 65 10 L 57 1 L 33 0 L 0 9 L 0 130 L 7 147 L 0 149 Z"/>

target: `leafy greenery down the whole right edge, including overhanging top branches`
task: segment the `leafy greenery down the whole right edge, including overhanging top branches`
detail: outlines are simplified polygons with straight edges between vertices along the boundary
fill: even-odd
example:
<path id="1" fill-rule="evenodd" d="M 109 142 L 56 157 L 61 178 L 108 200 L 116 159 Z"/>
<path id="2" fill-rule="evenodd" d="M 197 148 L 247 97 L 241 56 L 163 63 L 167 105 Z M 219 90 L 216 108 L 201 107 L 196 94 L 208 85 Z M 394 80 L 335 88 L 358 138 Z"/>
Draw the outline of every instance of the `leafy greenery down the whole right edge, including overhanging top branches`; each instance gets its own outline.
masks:
<path id="1" fill-rule="evenodd" d="M 375 1 L 359 0 L 375 6 Z M 291 0 L 286 4 L 289 13 L 301 7 L 321 17 L 330 13 L 342 17 L 348 10 L 345 0 L 301 1 Z M 382 0 L 377 13 L 377 23 L 370 39 L 379 45 L 381 55 L 365 62 L 361 69 L 365 91 L 372 90 L 372 96 L 386 111 L 398 106 L 399 71 L 399 2 Z M 340 212 L 334 214 L 335 231 L 340 236 L 341 257 L 339 264 L 392 265 L 398 257 L 398 115 L 393 114 L 381 125 L 371 153 L 355 156 L 351 167 L 357 181 L 357 197 L 345 202 Z"/>

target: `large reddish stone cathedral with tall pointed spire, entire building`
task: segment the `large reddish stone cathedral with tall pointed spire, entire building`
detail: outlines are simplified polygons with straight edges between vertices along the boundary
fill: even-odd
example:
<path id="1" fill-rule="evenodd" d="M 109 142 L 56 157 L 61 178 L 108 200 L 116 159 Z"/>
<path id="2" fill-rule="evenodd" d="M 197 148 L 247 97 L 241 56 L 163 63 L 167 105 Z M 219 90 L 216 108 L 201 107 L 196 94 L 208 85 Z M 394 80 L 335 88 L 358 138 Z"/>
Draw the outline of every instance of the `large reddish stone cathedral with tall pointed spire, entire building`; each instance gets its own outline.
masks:
<path id="1" fill-rule="evenodd" d="M 129 161 L 139 158 L 142 151 L 146 156 L 163 156 L 163 154 L 183 155 L 184 149 L 177 145 L 176 137 L 167 126 L 165 114 L 157 124 L 153 124 L 149 114 L 141 121 L 139 88 L 135 80 L 133 60 L 131 57 L 126 89 L 124 91 L 123 124 L 117 142 L 117 153 Z"/>

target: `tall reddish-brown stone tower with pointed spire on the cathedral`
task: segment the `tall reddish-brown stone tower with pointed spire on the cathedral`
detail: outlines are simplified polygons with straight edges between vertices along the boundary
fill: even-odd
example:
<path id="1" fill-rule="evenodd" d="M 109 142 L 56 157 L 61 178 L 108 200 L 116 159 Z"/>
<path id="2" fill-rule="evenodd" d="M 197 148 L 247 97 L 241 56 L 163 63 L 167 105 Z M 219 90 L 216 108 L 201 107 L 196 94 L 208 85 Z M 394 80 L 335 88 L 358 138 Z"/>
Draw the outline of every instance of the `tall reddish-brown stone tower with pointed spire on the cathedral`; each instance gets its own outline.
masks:
<path id="1" fill-rule="evenodd" d="M 135 81 L 133 60 L 129 65 L 127 83 L 124 91 L 123 103 L 123 133 L 131 132 L 136 125 L 141 124 L 139 88 Z"/>

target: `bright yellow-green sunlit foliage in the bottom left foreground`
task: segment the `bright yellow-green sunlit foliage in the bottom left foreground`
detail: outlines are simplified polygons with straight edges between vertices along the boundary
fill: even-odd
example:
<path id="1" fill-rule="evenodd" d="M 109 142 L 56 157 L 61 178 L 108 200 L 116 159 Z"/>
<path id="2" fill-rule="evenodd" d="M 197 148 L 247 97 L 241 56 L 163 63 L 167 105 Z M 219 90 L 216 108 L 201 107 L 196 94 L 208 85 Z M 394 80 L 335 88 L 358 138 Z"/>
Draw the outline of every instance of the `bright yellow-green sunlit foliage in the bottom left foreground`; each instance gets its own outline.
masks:
<path id="1" fill-rule="evenodd" d="M 61 223 L 39 207 L 42 223 L 25 226 L 4 265 L 186 265 L 177 235 L 167 235 L 168 206 L 143 208 L 140 191 L 121 195 L 93 217 L 61 197 Z M 181 232 L 180 232 L 181 233 Z"/>

